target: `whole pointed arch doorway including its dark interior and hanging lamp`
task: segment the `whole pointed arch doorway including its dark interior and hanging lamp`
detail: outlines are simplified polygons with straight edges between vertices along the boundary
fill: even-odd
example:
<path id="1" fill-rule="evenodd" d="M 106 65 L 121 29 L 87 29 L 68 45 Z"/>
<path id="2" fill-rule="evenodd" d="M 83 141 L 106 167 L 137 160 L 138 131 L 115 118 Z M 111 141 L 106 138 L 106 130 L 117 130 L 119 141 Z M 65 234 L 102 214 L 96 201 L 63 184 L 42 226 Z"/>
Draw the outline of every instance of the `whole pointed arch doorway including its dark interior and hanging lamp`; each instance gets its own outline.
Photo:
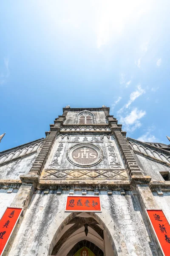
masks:
<path id="1" fill-rule="evenodd" d="M 113 239 L 98 215 L 94 212 L 72 212 L 57 230 L 48 255 L 116 256 L 114 251 Z"/>

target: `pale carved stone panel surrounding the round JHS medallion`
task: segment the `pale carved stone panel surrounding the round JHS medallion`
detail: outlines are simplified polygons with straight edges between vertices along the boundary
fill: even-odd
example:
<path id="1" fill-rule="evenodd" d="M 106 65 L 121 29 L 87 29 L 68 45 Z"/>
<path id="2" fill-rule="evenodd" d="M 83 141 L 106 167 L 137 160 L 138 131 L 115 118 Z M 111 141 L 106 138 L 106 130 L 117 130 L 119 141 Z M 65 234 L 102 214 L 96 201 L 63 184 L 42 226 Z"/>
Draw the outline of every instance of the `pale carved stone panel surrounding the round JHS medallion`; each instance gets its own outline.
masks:
<path id="1" fill-rule="evenodd" d="M 88 141 L 85 141 L 85 137 Z M 76 140 L 75 140 L 76 138 Z M 83 141 L 84 140 L 84 141 Z M 68 151 L 78 145 L 79 143 L 87 143 L 87 146 L 91 144 L 91 146 L 96 145 L 96 147 L 100 148 L 102 151 L 103 157 L 101 162 L 96 163 L 94 166 L 89 166 L 90 169 L 125 169 L 125 166 L 122 161 L 122 157 L 119 152 L 119 148 L 116 145 L 115 140 L 113 137 L 103 137 L 100 135 L 96 136 L 84 136 L 79 135 L 75 137 L 73 135 L 67 135 L 65 137 L 58 137 L 54 147 L 51 150 L 51 154 L 48 157 L 47 163 L 45 165 L 46 169 L 65 169 L 65 170 L 72 170 L 72 169 L 82 169 L 83 166 L 77 166 L 71 163 L 68 158 L 67 154 Z M 90 157 L 90 156 L 88 156 Z M 81 158 L 81 156 L 80 156 Z M 84 156 L 84 159 L 86 157 Z M 93 160 L 93 159 L 92 159 Z"/>

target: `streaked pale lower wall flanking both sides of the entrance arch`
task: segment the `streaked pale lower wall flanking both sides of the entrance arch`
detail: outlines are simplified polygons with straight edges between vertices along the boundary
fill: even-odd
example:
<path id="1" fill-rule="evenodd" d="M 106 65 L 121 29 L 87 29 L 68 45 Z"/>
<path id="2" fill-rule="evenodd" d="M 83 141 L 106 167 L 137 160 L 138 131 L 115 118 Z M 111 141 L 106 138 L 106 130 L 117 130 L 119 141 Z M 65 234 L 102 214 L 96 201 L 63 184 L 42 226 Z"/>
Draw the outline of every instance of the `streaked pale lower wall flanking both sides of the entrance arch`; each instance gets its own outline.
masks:
<path id="1" fill-rule="evenodd" d="M 52 191 L 51 191 L 52 193 Z M 54 192 L 53 192 L 54 193 Z M 68 191 L 62 195 L 34 194 L 9 256 L 47 256 L 51 241 L 70 212 L 65 212 Z M 100 195 L 102 212 L 96 213 L 113 237 L 118 256 L 153 256 L 139 201 L 131 192 Z"/>

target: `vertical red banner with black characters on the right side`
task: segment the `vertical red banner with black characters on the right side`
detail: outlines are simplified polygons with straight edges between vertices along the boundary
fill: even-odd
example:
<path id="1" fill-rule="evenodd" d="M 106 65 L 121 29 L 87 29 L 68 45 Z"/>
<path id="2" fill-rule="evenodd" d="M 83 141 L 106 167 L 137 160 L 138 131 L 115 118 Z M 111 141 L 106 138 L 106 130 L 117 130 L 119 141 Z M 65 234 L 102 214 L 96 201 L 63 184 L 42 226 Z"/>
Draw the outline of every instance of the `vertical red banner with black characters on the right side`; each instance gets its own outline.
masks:
<path id="1" fill-rule="evenodd" d="M 170 224 L 162 210 L 147 210 L 165 256 L 170 256 Z"/>

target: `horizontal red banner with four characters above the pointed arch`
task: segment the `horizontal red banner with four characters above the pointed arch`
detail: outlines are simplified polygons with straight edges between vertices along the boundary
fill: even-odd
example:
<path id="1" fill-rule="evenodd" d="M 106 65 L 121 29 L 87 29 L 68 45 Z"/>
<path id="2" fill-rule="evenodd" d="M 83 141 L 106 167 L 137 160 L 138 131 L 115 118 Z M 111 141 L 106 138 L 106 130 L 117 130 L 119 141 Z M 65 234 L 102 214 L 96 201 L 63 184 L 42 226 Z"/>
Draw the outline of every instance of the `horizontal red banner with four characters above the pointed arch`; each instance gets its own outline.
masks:
<path id="1" fill-rule="evenodd" d="M 65 211 L 101 212 L 99 196 L 68 196 Z"/>

